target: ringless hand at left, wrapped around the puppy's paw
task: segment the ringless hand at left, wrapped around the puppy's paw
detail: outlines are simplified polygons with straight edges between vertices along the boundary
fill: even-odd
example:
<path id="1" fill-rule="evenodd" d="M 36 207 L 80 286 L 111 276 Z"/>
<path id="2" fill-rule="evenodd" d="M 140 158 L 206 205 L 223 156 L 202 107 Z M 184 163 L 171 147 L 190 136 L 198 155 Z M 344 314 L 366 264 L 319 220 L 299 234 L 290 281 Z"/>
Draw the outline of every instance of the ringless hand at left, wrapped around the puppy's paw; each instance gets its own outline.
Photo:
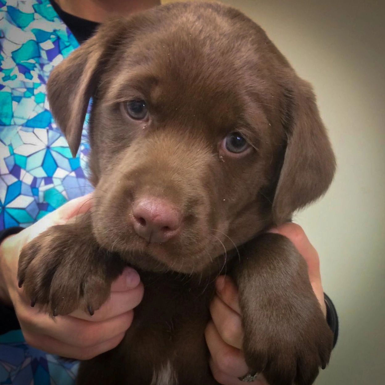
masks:
<path id="1" fill-rule="evenodd" d="M 42 231 L 85 213 L 91 207 L 87 195 L 61 206 L 27 229 L 0 244 L 0 301 L 13 306 L 27 343 L 46 352 L 76 359 L 90 359 L 114 348 L 133 318 L 133 308 L 142 300 L 143 285 L 137 272 L 126 267 L 112 283 L 111 296 L 93 316 L 76 310 L 54 319 L 30 306 L 17 285 L 20 251 Z"/>

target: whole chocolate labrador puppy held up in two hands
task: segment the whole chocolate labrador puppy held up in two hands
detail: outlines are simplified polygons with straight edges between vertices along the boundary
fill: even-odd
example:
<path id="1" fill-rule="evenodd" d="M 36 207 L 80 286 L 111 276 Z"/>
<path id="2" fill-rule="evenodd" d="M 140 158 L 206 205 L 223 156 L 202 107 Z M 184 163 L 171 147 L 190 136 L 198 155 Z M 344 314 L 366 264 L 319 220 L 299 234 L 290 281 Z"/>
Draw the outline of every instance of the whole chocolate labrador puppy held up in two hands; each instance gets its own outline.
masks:
<path id="1" fill-rule="evenodd" d="M 77 383 L 217 384 L 204 329 L 223 273 L 250 370 L 313 383 L 332 333 L 306 262 L 265 230 L 326 191 L 335 159 L 310 85 L 264 31 L 218 3 L 118 18 L 57 65 L 48 96 L 73 155 L 92 97 L 94 204 L 23 249 L 20 285 L 52 316 L 92 315 L 127 264 L 145 286 L 123 341 Z"/>

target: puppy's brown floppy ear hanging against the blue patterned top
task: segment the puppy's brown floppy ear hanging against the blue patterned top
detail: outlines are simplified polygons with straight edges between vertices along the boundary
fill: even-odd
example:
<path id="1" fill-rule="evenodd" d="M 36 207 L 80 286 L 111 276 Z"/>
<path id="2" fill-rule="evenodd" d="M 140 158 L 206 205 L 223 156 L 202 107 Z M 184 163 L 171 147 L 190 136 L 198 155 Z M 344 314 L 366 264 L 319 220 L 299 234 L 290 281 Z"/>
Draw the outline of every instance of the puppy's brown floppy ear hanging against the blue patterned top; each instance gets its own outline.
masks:
<path id="1" fill-rule="evenodd" d="M 50 74 L 47 83 L 50 110 L 67 139 L 72 156 L 80 146 L 90 97 L 125 27 L 127 23 L 122 19 L 105 23 Z"/>

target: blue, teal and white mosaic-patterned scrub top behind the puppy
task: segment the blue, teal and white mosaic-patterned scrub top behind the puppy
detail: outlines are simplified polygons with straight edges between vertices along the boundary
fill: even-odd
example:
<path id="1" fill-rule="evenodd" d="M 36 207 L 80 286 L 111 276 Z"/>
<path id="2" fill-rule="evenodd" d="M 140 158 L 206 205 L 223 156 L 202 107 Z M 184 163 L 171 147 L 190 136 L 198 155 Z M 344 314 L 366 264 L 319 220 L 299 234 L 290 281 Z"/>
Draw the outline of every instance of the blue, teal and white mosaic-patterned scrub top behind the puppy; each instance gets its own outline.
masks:
<path id="1" fill-rule="evenodd" d="M 79 46 L 74 35 L 48 0 L 0 0 L 0 44 L 1 230 L 26 227 L 92 187 L 87 129 L 72 158 L 46 97 L 50 71 Z M 70 385 L 76 370 L 26 345 L 21 330 L 0 335 L 1 385 Z"/>

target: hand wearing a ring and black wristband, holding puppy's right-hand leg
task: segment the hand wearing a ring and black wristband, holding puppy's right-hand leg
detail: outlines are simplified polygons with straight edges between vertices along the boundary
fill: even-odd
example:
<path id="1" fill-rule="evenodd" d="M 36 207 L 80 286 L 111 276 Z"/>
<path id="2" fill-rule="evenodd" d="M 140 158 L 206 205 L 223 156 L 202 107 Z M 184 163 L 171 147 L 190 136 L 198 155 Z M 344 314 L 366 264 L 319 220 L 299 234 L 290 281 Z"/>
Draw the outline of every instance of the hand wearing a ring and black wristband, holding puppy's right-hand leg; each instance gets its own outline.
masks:
<path id="1" fill-rule="evenodd" d="M 270 230 L 286 236 L 294 244 L 308 264 L 308 273 L 313 291 L 326 317 L 326 305 L 320 275 L 318 253 L 311 245 L 303 229 L 294 223 L 286 223 Z M 228 276 L 216 280 L 216 296 L 211 302 L 212 320 L 206 328 L 206 342 L 211 354 L 210 367 L 214 378 L 223 385 L 244 384 L 238 377 L 249 372 L 242 353 L 243 329 L 238 304 L 238 289 Z M 268 385 L 262 375 L 252 382 Z"/>

